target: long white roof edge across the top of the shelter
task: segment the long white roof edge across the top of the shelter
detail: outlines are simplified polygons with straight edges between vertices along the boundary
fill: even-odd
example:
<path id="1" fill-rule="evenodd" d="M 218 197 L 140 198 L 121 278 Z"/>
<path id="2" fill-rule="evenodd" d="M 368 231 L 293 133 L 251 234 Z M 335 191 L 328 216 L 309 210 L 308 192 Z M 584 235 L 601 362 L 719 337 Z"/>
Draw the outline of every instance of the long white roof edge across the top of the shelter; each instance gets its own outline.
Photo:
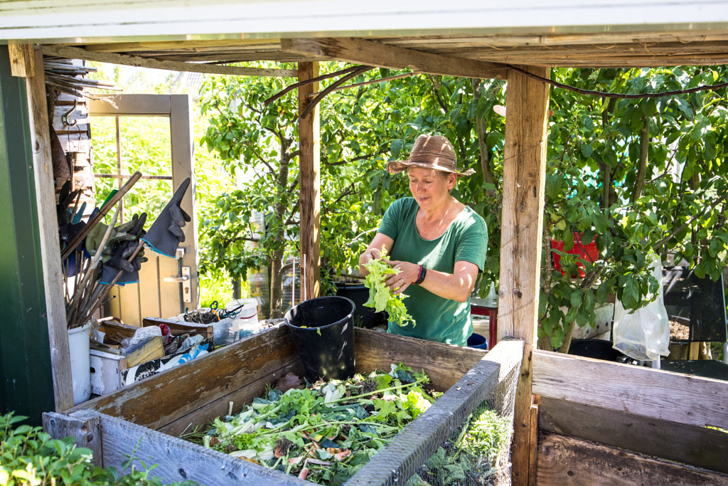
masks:
<path id="1" fill-rule="evenodd" d="M 706 30 L 728 31 L 728 2 L 87 0 L 59 6 L 52 0 L 0 1 L 0 39 L 48 43 Z"/>

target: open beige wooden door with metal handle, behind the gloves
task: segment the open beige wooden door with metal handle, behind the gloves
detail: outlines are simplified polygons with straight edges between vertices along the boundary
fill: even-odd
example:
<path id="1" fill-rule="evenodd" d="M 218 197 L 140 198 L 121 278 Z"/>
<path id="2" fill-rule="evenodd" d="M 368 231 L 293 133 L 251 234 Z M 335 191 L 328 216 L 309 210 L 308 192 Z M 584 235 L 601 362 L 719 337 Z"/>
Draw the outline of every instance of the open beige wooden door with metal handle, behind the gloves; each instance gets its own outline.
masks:
<path id="1" fill-rule="evenodd" d="M 171 182 L 169 197 L 186 178 L 191 184 L 181 207 L 191 216 L 183 228 L 185 241 L 180 243 L 177 257 L 159 255 L 147 249 L 149 261 L 142 264 L 139 283 L 114 286 L 103 315 L 121 318 L 124 324 L 141 326 L 145 317 L 168 318 L 199 307 L 199 278 L 197 272 L 197 222 L 195 215 L 194 159 L 189 95 L 95 95 L 90 103 L 92 117 L 167 117 L 170 120 L 171 176 L 142 176 L 145 179 L 167 179 Z M 123 141 L 122 141 L 123 142 Z M 117 144 L 118 146 L 118 144 Z M 130 147 L 133 150 L 133 147 Z M 122 173 L 122 180 L 128 174 Z M 149 213 L 146 230 L 158 214 Z M 183 280 L 186 279 L 186 280 Z"/>

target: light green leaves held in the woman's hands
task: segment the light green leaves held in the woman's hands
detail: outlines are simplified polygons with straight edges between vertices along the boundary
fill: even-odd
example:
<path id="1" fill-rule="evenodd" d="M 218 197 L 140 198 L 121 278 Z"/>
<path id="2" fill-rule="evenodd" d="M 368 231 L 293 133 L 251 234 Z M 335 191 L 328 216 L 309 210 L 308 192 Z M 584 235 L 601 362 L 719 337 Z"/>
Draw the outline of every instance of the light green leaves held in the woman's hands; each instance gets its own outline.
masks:
<path id="1" fill-rule="evenodd" d="M 381 258 L 371 259 L 364 267 L 369 271 L 366 276 L 364 286 L 369 289 L 369 299 L 364 303 L 367 307 L 374 307 L 376 312 L 386 310 L 389 314 L 389 321 L 394 322 L 397 326 L 403 327 L 415 321 L 407 312 L 407 307 L 403 300 L 407 297 L 405 294 L 392 294 L 392 291 L 384 284 L 387 275 L 397 275 L 402 270 L 396 270 L 387 264 L 389 257 L 387 251 L 382 248 Z"/>

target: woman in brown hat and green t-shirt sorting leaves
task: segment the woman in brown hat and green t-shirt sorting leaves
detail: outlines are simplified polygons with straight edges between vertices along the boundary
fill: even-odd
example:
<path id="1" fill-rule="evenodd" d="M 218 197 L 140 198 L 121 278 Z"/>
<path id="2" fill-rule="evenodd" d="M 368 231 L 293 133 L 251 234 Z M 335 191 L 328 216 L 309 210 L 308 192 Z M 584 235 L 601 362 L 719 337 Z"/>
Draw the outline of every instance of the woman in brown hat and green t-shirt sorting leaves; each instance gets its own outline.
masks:
<path id="1" fill-rule="evenodd" d="M 421 135 L 408 160 L 388 162 L 389 173 L 407 171 L 412 197 L 387 208 L 381 226 L 359 258 L 364 264 L 384 248 L 397 275 L 385 283 L 405 293 L 415 326 L 389 323 L 388 332 L 464 346 L 472 334 L 470 294 L 483 271 L 488 246 L 486 222 L 450 195 L 458 176 L 455 151 L 443 136 Z"/>

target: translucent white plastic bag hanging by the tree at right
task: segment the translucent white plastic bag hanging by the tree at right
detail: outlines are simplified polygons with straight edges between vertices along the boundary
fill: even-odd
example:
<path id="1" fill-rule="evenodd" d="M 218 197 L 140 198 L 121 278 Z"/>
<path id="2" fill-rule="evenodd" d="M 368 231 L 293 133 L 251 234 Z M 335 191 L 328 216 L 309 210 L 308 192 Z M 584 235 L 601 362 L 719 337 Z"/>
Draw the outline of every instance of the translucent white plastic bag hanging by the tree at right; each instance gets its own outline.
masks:
<path id="1" fill-rule="evenodd" d="M 656 361 L 660 356 L 670 354 L 670 321 L 662 299 L 660 257 L 653 256 L 651 267 L 660 289 L 657 298 L 631 313 L 625 312 L 619 300 L 614 304 L 612 348 L 638 361 Z"/>

